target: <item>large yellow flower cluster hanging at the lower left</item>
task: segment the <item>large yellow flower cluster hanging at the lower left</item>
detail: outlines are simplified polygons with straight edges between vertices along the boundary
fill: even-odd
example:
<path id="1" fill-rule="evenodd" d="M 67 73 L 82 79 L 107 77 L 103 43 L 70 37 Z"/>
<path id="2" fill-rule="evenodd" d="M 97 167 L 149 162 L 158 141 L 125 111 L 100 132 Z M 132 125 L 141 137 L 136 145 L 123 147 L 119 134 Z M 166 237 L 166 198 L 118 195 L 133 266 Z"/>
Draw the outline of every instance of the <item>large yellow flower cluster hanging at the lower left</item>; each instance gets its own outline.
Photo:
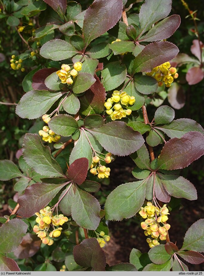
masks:
<path id="1" fill-rule="evenodd" d="M 62 228 L 55 226 L 61 226 L 68 221 L 67 217 L 64 217 L 63 214 L 52 215 L 52 210 L 49 206 L 40 210 L 40 213 L 35 213 L 37 216 L 36 222 L 39 224 L 33 227 L 33 231 L 38 235 L 42 240 L 42 243 L 47 245 L 52 245 L 54 241 L 52 237 L 59 237 L 61 235 Z M 52 225 L 53 230 L 50 231 L 50 226 Z M 48 231 L 50 232 L 48 234 Z"/>

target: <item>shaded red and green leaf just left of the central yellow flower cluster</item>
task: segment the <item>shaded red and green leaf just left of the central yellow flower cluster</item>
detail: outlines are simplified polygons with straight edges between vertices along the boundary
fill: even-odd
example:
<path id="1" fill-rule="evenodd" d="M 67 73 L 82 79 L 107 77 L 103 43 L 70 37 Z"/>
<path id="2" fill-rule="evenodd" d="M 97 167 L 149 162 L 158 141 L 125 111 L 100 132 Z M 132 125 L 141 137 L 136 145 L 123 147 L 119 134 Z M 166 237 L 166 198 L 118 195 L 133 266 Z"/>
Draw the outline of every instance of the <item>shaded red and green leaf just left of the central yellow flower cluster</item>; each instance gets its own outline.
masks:
<path id="1" fill-rule="evenodd" d="M 80 110 L 84 115 L 100 114 L 104 108 L 106 98 L 105 88 L 96 75 L 94 78 L 96 79 L 95 83 L 83 96 L 79 97 L 81 103 Z"/>

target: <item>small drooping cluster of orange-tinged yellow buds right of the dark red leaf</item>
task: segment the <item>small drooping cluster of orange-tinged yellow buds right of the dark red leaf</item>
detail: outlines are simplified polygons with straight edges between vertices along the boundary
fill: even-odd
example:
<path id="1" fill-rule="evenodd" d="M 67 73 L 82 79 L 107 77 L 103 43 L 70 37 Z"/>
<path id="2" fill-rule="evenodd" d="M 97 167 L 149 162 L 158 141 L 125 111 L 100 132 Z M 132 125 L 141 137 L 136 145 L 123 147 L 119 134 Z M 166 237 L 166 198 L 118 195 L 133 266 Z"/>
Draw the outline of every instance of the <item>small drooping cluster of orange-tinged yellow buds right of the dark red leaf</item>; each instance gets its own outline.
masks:
<path id="1" fill-rule="evenodd" d="M 110 175 L 110 168 L 106 168 L 106 166 L 102 166 L 100 163 L 100 159 L 105 161 L 107 164 L 109 164 L 112 160 L 114 160 L 114 157 L 110 152 L 105 154 L 105 158 L 99 157 L 96 155 L 92 159 L 92 164 L 90 167 L 90 173 L 93 175 L 97 175 L 98 178 L 108 178 Z"/>

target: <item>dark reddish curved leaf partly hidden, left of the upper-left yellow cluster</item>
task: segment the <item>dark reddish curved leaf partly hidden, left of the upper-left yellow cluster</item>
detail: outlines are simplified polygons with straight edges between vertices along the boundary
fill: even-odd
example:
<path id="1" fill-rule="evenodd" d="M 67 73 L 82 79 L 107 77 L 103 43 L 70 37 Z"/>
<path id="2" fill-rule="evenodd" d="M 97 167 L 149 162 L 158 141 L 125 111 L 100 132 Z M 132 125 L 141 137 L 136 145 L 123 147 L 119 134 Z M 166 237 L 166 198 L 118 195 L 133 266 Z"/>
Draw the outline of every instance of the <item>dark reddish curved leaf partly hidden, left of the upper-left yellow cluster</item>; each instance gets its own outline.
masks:
<path id="1" fill-rule="evenodd" d="M 45 79 L 53 72 L 56 72 L 56 68 L 43 68 L 38 70 L 33 76 L 32 87 L 35 90 L 49 90 L 45 85 Z"/>

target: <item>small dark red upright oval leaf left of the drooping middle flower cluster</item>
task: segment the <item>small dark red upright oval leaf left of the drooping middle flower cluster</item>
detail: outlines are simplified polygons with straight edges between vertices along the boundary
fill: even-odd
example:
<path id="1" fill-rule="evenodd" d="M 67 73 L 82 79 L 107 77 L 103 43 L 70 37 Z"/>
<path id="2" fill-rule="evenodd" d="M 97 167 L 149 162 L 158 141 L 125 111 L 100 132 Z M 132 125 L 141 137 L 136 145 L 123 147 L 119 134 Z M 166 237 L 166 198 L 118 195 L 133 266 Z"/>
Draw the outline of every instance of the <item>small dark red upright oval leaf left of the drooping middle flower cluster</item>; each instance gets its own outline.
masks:
<path id="1" fill-rule="evenodd" d="M 78 185 L 84 182 L 89 169 L 89 160 L 85 157 L 76 159 L 68 170 L 68 177 Z"/>

